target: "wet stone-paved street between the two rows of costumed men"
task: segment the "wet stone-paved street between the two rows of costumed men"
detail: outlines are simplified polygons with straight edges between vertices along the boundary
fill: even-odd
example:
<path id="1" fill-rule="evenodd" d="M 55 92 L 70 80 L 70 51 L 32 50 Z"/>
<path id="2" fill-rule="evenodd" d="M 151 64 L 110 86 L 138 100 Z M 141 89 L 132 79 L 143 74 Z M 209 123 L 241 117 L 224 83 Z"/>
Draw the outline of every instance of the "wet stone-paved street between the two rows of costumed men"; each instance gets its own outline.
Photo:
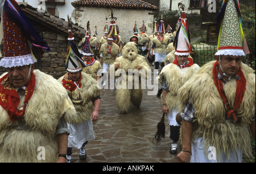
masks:
<path id="1" fill-rule="evenodd" d="M 151 67 L 152 68 L 152 67 Z M 73 149 L 71 163 L 175 163 L 170 154 L 171 139 L 167 116 L 166 137 L 156 146 L 156 126 L 162 118 L 162 104 L 155 95 L 143 90 L 141 107 L 131 105 L 129 113 L 119 114 L 116 90 L 101 90 L 99 119 L 93 122 L 96 139 L 86 145 L 87 158 L 79 160 Z M 178 146 L 178 153 L 180 151 Z"/>

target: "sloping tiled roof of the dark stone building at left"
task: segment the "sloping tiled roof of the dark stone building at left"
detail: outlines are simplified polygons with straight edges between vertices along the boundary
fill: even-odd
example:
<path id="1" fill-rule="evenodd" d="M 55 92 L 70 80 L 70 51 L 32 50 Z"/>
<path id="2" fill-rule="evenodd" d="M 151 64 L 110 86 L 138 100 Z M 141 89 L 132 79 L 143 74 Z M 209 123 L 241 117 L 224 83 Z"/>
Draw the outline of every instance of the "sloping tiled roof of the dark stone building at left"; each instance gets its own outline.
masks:
<path id="1" fill-rule="evenodd" d="M 63 35 L 68 36 L 68 22 L 64 19 L 51 15 L 48 12 L 38 12 L 37 9 L 31 7 L 30 5 L 20 5 L 20 9 L 22 9 L 28 18 L 36 20 L 42 23 L 44 26 L 57 30 L 59 33 L 63 33 Z M 72 33 L 75 38 L 79 37 L 82 39 L 85 37 L 85 32 L 86 30 L 84 28 L 74 24 L 72 25 Z M 79 40 L 79 38 L 77 39 Z"/>

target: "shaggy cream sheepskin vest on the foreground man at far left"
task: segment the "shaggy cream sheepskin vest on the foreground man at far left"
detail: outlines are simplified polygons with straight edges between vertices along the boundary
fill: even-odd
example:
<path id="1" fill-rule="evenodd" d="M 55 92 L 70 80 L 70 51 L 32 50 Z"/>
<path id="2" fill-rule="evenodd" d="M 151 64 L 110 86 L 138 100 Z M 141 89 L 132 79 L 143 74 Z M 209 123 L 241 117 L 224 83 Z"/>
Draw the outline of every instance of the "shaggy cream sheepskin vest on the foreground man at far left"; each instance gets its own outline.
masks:
<path id="1" fill-rule="evenodd" d="M 65 88 L 56 79 L 39 70 L 34 70 L 34 74 L 35 91 L 20 120 L 11 121 L 6 110 L 0 107 L 0 162 L 57 161 L 56 126 L 68 108 L 73 111 L 75 108 L 71 108 Z M 23 101 L 24 97 L 18 108 Z M 38 159 L 39 147 L 45 148 L 45 160 Z"/>

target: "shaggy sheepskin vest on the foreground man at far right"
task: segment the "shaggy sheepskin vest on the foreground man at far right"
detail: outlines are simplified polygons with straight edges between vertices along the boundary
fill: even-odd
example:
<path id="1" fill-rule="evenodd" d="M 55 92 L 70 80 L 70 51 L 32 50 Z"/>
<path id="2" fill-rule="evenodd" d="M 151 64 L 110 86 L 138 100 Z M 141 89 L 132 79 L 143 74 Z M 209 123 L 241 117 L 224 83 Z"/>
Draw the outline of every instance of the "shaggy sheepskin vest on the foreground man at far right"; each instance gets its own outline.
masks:
<path id="1" fill-rule="evenodd" d="M 212 69 L 215 61 L 205 64 L 179 91 L 180 112 L 184 112 L 187 102 L 193 104 L 195 121 L 193 121 L 192 138 L 203 137 L 204 147 L 214 146 L 224 154 L 241 148 L 243 154 L 251 155 L 249 124 L 255 111 L 255 74 L 253 69 L 241 64 L 246 82 L 246 91 L 240 107 L 237 109 L 239 122 L 225 119 L 224 103 L 214 84 Z M 225 95 L 233 108 L 236 96 L 236 80 L 224 84 Z M 207 150 L 207 149 L 206 149 Z M 218 159 L 218 158 L 217 158 Z"/>

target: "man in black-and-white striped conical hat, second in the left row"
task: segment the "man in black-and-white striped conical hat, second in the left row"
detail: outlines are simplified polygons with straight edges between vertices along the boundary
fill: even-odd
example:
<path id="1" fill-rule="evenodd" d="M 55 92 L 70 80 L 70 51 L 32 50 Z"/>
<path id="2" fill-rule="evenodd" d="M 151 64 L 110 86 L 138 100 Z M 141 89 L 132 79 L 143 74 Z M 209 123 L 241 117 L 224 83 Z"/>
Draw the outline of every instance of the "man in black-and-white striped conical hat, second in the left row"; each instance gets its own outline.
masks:
<path id="1" fill-rule="evenodd" d="M 68 73 L 59 78 L 58 81 L 67 90 L 68 96 L 76 108 L 76 116 L 68 124 L 71 133 L 68 137 L 67 162 L 70 162 L 72 147 L 79 148 L 79 158 L 80 160 L 85 160 L 85 145 L 88 141 L 95 139 L 92 121 L 98 120 L 100 90 L 98 90 L 96 80 L 89 74 L 82 72 L 82 68 L 86 67 L 86 65 L 82 61 L 81 54 L 73 41 L 74 37 L 71 29 L 69 29 L 68 40 L 66 61 Z"/>

